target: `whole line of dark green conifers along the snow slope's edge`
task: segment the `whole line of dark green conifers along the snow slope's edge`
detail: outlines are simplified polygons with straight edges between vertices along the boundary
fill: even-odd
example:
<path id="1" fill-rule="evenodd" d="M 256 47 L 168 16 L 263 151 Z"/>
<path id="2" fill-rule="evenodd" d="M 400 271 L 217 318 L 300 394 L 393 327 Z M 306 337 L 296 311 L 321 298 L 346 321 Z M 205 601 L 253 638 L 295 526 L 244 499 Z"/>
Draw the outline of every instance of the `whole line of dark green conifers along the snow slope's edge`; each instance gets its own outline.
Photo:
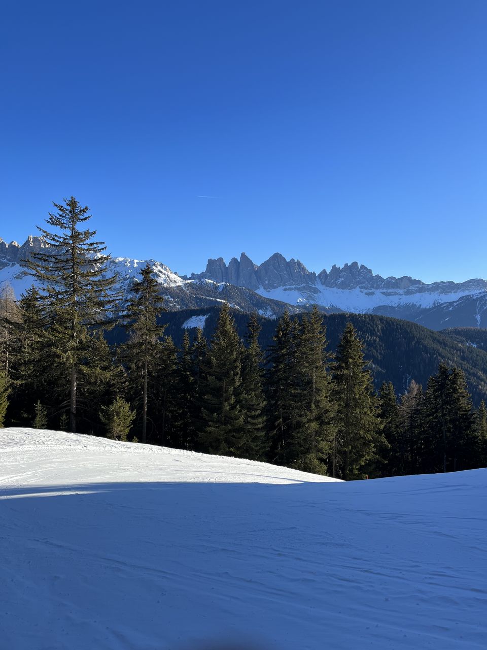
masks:
<path id="1" fill-rule="evenodd" d="M 487 409 L 461 370 L 441 364 L 423 388 L 375 392 L 349 322 L 335 355 L 323 317 L 284 313 L 262 350 L 249 316 L 240 339 L 223 304 L 214 335 L 164 335 L 147 265 L 121 302 L 109 255 L 84 227 L 88 207 L 54 204 L 34 283 L 0 297 L 0 426 L 36 426 L 268 461 L 346 480 L 487 464 Z M 104 332 L 121 320 L 127 341 Z"/>

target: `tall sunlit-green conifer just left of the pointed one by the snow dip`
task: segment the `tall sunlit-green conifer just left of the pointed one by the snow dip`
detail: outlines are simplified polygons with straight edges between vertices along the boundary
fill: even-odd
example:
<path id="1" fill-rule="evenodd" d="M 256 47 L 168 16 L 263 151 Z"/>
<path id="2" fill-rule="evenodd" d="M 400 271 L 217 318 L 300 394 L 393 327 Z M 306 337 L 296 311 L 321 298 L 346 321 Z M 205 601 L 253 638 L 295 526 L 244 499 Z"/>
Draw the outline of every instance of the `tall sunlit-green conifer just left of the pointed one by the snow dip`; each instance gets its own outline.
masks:
<path id="1" fill-rule="evenodd" d="M 336 434 L 331 374 L 332 355 L 326 351 L 323 316 L 314 307 L 310 316 L 297 322 L 295 336 L 295 388 L 290 453 L 293 467 L 326 473 Z"/>

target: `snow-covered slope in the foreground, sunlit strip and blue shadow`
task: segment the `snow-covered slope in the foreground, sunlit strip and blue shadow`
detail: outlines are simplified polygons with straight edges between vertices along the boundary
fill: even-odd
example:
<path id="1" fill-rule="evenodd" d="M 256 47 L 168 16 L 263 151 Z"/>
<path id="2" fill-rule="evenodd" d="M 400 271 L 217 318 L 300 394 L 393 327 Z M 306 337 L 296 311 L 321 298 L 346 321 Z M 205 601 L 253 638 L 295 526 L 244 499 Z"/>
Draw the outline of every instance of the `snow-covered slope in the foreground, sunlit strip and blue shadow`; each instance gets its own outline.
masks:
<path id="1" fill-rule="evenodd" d="M 483 649 L 486 484 L 0 430 L 0 647 Z"/>

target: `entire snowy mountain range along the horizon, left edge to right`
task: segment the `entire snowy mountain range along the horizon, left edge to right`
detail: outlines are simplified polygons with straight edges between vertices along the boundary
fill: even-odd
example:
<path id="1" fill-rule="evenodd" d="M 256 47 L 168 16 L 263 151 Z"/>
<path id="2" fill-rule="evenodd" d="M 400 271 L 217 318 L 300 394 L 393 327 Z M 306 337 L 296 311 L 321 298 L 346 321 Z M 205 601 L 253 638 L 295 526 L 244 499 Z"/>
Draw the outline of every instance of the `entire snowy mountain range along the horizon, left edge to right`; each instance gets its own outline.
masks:
<path id="1" fill-rule="evenodd" d="M 10 283 L 19 296 L 32 283 L 23 260 L 45 248 L 42 237 L 29 236 L 19 245 L 0 239 L 0 287 Z M 126 294 L 132 279 L 146 261 L 114 257 L 110 273 L 119 276 L 119 289 Z M 205 271 L 179 276 L 164 263 L 149 260 L 163 287 L 166 308 L 171 311 L 216 306 L 228 302 L 242 311 L 258 311 L 273 318 L 284 309 L 292 313 L 318 305 L 325 313 L 370 313 L 403 318 L 432 330 L 451 327 L 487 327 L 487 281 L 430 284 L 410 276 L 374 275 L 357 262 L 332 266 L 316 274 L 299 260 L 274 253 L 260 265 L 242 253 L 228 265 L 223 258 L 208 259 Z"/>

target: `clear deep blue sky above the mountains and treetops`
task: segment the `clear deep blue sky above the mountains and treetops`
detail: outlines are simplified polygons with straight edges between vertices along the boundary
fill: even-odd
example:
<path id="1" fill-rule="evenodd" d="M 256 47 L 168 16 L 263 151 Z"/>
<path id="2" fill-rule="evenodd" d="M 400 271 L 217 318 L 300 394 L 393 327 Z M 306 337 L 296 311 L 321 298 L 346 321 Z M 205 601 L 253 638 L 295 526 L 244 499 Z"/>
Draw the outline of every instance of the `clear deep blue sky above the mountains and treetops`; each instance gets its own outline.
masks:
<path id="1" fill-rule="evenodd" d="M 74 194 L 180 273 L 487 278 L 486 33 L 485 0 L 5 1 L 0 236 Z"/>

